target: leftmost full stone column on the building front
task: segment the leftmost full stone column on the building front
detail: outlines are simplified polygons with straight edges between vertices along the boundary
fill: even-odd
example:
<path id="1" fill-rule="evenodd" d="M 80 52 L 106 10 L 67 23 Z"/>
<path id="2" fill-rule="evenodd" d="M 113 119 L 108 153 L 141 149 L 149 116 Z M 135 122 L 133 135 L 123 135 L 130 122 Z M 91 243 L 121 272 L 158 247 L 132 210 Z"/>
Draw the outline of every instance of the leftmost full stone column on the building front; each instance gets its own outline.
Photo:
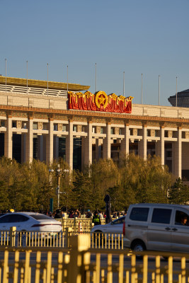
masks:
<path id="1" fill-rule="evenodd" d="M 13 158 L 13 141 L 12 141 L 12 137 L 13 137 L 13 132 L 12 132 L 12 115 L 11 114 L 7 114 L 6 115 L 6 132 L 4 135 L 4 155 L 7 158 Z"/>

